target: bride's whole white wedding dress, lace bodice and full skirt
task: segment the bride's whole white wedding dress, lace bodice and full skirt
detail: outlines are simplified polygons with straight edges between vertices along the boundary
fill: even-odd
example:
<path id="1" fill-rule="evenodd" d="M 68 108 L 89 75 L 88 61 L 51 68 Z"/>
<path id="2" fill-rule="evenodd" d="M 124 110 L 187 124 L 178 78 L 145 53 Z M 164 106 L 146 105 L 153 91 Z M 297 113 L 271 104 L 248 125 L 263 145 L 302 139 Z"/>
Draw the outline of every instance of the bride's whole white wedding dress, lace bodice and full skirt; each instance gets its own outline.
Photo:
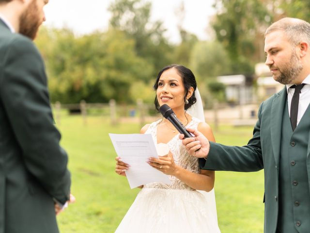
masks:
<path id="1" fill-rule="evenodd" d="M 193 117 L 187 126 L 197 129 L 200 122 Z M 158 123 L 153 122 L 145 132 L 152 134 L 155 144 Z M 175 164 L 200 172 L 198 159 L 187 153 L 178 134 L 168 142 L 168 146 Z M 116 233 L 219 233 L 217 216 L 210 210 L 206 195 L 174 176 L 170 179 L 171 185 L 145 184 Z"/>

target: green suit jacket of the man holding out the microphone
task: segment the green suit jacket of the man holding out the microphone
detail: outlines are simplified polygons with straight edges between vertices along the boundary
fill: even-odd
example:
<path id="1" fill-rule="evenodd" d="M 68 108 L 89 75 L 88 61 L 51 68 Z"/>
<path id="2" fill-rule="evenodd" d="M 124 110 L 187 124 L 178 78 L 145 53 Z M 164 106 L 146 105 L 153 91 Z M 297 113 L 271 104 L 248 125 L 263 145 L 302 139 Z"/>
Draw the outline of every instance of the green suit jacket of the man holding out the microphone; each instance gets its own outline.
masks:
<path id="1" fill-rule="evenodd" d="M 264 169 L 264 232 L 266 233 L 275 233 L 277 228 L 280 141 L 283 109 L 287 104 L 286 96 L 287 91 L 284 87 L 261 104 L 253 137 L 247 146 L 233 147 L 211 142 L 207 160 L 200 160 L 203 169 L 245 172 Z M 306 166 L 310 177 L 310 142 L 307 147 Z"/>

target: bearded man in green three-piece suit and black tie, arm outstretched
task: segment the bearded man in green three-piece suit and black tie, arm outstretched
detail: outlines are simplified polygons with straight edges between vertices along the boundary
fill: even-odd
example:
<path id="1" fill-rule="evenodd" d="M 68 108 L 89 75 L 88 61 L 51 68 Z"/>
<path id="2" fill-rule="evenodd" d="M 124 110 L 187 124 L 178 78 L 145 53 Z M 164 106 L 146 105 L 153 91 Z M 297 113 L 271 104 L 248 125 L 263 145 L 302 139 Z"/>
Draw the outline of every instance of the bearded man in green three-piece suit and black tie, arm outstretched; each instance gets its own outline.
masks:
<path id="1" fill-rule="evenodd" d="M 296 18 L 273 23 L 264 51 L 273 78 L 285 87 L 261 104 L 248 145 L 212 143 L 191 129 L 196 137 L 183 144 L 201 158 L 202 169 L 264 169 L 264 232 L 310 233 L 310 24 Z"/>

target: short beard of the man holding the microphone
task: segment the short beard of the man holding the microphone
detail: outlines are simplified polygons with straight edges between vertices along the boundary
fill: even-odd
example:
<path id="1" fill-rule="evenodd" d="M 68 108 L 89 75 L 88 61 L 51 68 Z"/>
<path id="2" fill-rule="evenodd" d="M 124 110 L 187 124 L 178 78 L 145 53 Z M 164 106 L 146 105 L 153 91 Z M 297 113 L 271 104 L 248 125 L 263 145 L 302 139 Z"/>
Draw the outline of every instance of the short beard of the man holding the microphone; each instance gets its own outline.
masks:
<path id="1" fill-rule="evenodd" d="M 274 75 L 274 79 L 282 84 L 290 84 L 300 74 L 303 65 L 298 59 L 296 52 L 293 51 L 290 61 L 284 64 L 283 67 L 278 67 L 278 69 L 280 74 L 278 77 Z"/>

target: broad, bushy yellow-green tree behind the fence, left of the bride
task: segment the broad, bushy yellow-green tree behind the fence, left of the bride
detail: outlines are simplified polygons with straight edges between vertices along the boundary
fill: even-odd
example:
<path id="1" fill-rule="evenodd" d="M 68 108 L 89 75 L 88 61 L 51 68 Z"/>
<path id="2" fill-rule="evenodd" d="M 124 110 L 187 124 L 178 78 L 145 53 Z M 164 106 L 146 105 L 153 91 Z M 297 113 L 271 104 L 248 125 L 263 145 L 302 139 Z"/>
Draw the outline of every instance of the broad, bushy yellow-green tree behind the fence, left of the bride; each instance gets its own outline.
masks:
<path id="1" fill-rule="evenodd" d="M 52 49 L 43 43 L 47 36 Z M 76 37 L 67 29 L 48 29 L 40 31 L 38 37 L 47 62 L 52 101 L 108 102 L 113 98 L 130 102 L 134 101 L 131 85 L 152 77 L 152 67 L 137 56 L 135 41 L 124 32 L 111 29 Z"/>

